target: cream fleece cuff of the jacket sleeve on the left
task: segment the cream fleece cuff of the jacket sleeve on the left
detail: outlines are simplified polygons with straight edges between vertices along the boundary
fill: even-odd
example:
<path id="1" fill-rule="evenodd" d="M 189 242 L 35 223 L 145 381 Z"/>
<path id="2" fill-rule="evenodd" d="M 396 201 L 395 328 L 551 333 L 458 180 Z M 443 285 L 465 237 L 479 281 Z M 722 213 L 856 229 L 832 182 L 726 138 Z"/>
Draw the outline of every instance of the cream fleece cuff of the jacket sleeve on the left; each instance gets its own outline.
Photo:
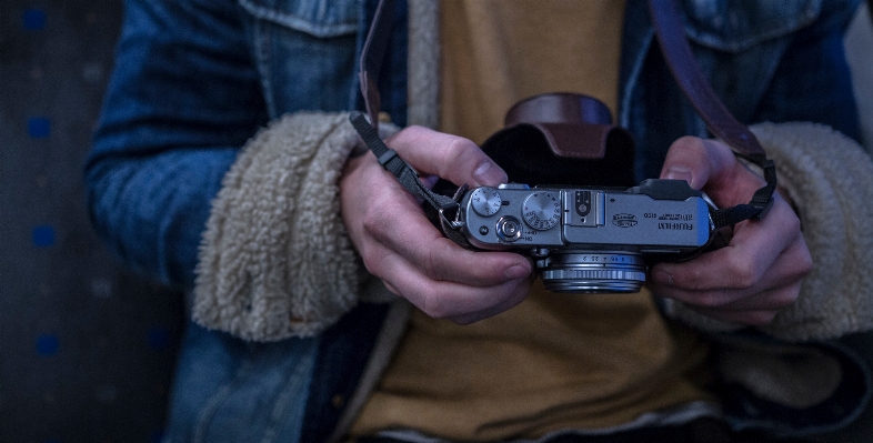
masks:
<path id="1" fill-rule="evenodd" d="M 304 112 L 247 143 L 212 202 L 197 323 L 275 341 L 315 335 L 354 306 L 362 266 L 337 195 L 358 140 L 347 113 Z"/>

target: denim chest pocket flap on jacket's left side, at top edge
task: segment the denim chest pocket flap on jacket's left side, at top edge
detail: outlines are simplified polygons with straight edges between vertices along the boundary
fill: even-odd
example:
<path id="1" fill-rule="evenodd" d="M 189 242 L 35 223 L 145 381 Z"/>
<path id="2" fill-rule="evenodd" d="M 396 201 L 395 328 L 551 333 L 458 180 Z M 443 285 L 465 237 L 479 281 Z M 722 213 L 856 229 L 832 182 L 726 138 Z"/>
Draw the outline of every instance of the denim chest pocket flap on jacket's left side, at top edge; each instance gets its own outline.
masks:
<path id="1" fill-rule="evenodd" d="M 358 31 L 355 0 L 239 0 L 257 19 L 271 21 L 318 38 Z"/>

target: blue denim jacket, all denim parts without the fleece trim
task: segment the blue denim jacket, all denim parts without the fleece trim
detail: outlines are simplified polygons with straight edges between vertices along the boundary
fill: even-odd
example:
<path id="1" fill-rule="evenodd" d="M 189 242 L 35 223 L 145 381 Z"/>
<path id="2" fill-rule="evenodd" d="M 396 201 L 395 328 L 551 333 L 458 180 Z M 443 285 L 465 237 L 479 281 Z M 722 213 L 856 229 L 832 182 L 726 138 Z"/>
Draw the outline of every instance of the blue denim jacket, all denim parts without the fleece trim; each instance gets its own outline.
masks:
<path id="1" fill-rule="evenodd" d="M 362 109 L 357 66 L 374 3 L 128 0 L 86 165 L 92 220 L 110 248 L 132 269 L 190 289 L 210 202 L 240 147 L 287 113 Z M 856 3 L 685 0 L 683 7 L 694 53 L 737 119 L 815 121 L 857 139 L 842 52 Z M 400 125 L 407 123 L 405 22 L 399 2 L 380 79 L 382 109 Z M 639 179 L 658 177 L 676 138 L 706 135 L 655 47 L 645 4 L 629 1 L 619 123 L 635 137 Z M 167 440 L 325 441 L 387 313 L 385 305 L 361 304 L 315 338 L 278 343 L 191 324 Z M 735 403 L 743 409 L 742 400 Z M 852 414 L 819 414 L 821 423 L 804 431 Z M 785 411 L 764 415 L 743 423 L 803 425 Z"/>

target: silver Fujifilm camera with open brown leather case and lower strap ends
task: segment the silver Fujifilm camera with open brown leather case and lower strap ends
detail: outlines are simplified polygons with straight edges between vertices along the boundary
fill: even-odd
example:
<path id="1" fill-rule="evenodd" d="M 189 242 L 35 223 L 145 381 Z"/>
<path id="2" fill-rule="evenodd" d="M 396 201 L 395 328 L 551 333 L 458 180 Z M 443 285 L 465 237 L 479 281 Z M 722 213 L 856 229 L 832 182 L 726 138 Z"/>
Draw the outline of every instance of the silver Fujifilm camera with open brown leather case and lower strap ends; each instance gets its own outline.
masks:
<path id="1" fill-rule="evenodd" d="M 633 185 L 633 138 L 612 124 L 605 104 L 581 94 L 534 95 L 510 109 L 505 128 L 481 147 L 514 181 L 495 188 L 440 180 L 425 189 L 363 115 L 350 120 L 378 161 L 427 203 L 445 236 L 531 256 L 552 292 L 638 292 L 649 265 L 723 245 L 730 226 L 772 202 L 770 194 L 757 202 L 756 193 L 759 205 L 721 210 L 683 180 Z M 767 183 L 775 183 L 770 164 Z"/>

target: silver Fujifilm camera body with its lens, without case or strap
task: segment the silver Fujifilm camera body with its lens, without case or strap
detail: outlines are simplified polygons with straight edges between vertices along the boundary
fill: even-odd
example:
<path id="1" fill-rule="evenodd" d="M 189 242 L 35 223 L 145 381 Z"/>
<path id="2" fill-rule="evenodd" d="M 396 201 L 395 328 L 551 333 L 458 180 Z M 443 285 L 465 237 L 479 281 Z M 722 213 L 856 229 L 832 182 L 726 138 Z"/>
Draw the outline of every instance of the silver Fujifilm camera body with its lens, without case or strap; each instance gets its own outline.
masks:
<path id="1" fill-rule="evenodd" d="M 648 259 L 693 256 L 714 230 L 703 195 L 682 180 L 476 188 L 464 193 L 456 221 L 474 248 L 530 254 L 553 292 L 638 292 Z"/>

